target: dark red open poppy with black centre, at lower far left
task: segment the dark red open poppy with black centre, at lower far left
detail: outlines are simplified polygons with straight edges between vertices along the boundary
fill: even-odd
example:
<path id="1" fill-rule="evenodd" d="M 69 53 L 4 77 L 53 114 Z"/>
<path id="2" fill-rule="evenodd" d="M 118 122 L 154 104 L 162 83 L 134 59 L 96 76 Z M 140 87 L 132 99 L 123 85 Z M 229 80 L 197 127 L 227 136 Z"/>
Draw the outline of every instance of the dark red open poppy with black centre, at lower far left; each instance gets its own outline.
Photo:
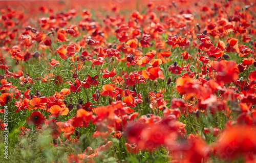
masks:
<path id="1" fill-rule="evenodd" d="M 34 124 L 35 126 L 42 125 L 46 120 L 46 117 L 42 115 L 40 111 L 33 111 L 29 117 L 26 118 L 26 121 L 29 125 Z"/>

